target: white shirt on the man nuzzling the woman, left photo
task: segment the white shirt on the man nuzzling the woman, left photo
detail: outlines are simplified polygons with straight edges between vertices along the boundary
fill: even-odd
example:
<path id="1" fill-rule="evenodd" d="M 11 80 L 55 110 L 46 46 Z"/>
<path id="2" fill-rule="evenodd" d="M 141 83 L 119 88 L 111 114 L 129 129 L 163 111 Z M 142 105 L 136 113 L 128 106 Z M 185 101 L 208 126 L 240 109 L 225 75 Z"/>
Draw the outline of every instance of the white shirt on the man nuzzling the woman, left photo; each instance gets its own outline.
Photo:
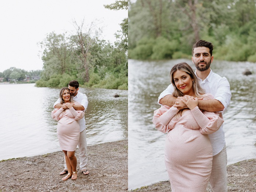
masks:
<path id="1" fill-rule="evenodd" d="M 84 107 L 84 111 L 87 109 L 88 99 L 87 99 L 87 96 L 85 94 L 77 92 L 77 95 L 76 96 L 72 96 L 72 99 L 74 101 L 79 102 Z M 56 104 L 58 104 L 58 103 L 61 103 L 61 99 L 60 98 L 54 103 L 53 107 Z M 79 119 L 78 123 L 79 123 L 79 126 L 80 126 L 80 132 L 82 132 L 86 128 L 85 118 Z"/>

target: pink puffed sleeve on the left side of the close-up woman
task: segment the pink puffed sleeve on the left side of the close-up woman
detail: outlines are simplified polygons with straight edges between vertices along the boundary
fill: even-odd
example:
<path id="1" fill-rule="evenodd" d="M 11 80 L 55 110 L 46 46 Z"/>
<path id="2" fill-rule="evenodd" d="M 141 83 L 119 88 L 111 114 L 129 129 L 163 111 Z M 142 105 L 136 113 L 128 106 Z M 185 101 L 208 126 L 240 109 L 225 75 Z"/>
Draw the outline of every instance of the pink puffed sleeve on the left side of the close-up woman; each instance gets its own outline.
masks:
<path id="1" fill-rule="evenodd" d="M 171 121 L 172 118 L 179 112 L 176 107 L 162 106 L 154 111 L 153 123 L 156 129 L 167 133 L 176 125 L 177 121 Z"/>

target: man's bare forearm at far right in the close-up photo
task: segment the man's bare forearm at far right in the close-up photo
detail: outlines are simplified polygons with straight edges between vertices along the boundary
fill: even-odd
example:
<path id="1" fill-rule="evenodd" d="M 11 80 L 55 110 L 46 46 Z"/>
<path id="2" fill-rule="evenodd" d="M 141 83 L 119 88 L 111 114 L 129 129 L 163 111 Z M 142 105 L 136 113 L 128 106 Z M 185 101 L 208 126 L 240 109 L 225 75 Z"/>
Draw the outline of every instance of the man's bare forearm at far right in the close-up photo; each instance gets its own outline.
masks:
<path id="1" fill-rule="evenodd" d="M 203 111 L 217 112 L 223 111 L 223 104 L 216 99 L 198 100 L 198 108 Z"/>

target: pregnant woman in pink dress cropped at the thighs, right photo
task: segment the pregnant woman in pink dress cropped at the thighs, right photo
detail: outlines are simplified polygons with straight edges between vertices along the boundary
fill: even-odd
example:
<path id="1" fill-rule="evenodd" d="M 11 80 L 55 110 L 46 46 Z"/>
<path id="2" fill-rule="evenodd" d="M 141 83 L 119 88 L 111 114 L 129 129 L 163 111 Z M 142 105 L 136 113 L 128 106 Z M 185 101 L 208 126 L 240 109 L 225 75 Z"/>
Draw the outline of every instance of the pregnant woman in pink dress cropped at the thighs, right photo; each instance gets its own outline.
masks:
<path id="1" fill-rule="evenodd" d="M 224 122 L 220 113 L 201 111 L 198 98 L 213 99 L 204 94 L 198 78 L 187 63 L 173 66 L 170 79 L 173 96 L 182 97 L 188 108 L 179 110 L 162 106 L 154 111 L 156 129 L 167 133 L 165 166 L 172 192 L 205 192 L 212 169 L 212 146 L 207 134 L 216 132 Z"/>

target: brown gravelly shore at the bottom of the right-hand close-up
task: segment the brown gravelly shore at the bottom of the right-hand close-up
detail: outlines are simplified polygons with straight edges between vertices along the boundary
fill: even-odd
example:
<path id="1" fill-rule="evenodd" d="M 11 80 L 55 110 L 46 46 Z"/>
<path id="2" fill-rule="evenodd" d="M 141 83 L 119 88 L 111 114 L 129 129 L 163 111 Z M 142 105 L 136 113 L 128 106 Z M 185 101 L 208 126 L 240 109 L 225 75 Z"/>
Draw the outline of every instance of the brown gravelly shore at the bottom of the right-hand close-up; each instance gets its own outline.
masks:
<path id="1" fill-rule="evenodd" d="M 244 160 L 227 166 L 227 191 L 255 192 L 256 191 L 256 159 Z M 158 182 L 132 192 L 170 192 L 169 181 Z M 206 192 L 211 192 L 210 185 Z"/>

